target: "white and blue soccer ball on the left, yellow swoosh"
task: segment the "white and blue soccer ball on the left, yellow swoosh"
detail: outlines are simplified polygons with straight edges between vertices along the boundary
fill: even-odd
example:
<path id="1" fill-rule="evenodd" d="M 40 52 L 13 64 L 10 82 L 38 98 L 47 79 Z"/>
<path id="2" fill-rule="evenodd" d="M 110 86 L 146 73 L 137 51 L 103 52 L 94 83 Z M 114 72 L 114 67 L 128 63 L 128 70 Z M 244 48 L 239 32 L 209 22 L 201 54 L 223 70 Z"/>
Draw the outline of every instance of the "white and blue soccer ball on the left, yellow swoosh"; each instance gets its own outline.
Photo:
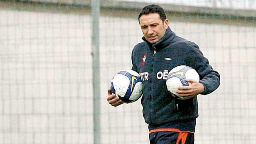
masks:
<path id="1" fill-rule="evenodd" d="M 142 81 L 140 75 L 133 70 L 122 70 L 111 80 L 110 89 L 123 102 L 132 103 L 142 95 Z"/>

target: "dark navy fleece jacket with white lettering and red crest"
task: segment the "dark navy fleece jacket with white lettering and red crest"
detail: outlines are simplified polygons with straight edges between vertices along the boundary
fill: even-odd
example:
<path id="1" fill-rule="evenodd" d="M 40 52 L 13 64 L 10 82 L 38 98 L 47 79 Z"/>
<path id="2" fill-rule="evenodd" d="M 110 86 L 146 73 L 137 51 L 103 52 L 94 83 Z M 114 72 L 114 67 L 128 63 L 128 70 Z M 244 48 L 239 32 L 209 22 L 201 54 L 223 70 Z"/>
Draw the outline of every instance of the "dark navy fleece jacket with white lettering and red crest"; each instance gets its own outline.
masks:
<path id="1" fill-rule="evenodd" d="M 218 88 L 218 72 L 209 65 L 195 43 L 178 37 L 170 28 L 153 45 L 144 37 L 143 40 L 132 51 L 132 70 L 138 72 L 143 80 L 141 103 L 145 122 L 149 125 L 165 125 L 197 118 L 197 97 L 178 100 L 171 96 L 166 88 L 168 72 L 178 65 L 193 67 L 200 76 L 199 82 L 205 86 L 202 95 Z"/>

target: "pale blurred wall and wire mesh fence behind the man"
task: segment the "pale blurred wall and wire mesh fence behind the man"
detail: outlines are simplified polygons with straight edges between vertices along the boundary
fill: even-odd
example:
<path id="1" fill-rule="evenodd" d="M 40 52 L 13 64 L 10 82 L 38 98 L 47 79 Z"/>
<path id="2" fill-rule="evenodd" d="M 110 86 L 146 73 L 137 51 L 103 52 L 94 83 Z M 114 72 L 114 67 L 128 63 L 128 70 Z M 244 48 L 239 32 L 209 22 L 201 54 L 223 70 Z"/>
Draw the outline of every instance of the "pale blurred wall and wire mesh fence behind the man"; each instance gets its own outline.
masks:
<path id="1" fill-rule="evenodd" d="M 198 95 L 195 143 L 255 144 L 255 0 L 0 0 L 0 143 L 149 143 L 140 99 L 106 97 L 153 3 L 221 75 Z"/>

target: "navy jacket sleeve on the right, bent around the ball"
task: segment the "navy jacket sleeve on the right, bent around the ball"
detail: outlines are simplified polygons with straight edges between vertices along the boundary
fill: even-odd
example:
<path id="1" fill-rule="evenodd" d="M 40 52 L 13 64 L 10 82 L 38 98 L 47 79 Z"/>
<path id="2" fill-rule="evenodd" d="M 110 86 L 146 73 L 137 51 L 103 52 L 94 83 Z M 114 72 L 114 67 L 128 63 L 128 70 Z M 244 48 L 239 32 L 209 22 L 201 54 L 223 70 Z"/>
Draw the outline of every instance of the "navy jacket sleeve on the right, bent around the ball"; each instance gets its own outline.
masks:
<path id="1" fill-rule="evenodd" d="M 190 45 L 186 55 L 186 63 L 189 63 L 200 76 L 200 83 L 205 86 L 202 95 L 212 93 L 220 85 L 220 74 L 213 70 L 207 58 L 205 58 L 196 44 Z"/>

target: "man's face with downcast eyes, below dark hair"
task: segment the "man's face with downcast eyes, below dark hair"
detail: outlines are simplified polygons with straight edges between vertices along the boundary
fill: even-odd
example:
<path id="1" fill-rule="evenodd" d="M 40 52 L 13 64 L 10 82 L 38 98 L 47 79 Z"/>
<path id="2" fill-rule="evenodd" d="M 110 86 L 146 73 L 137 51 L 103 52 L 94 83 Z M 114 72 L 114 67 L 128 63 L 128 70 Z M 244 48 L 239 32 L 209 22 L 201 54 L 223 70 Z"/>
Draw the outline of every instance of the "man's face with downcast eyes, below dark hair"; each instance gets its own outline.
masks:
<path id="1" fill-rule="evenodd" d="M 161 40 L 169 24 L 168 19 L 162 22 L 158 13 L 142 15 L 139 21 L 145 39 L 152 44 Z"/>

